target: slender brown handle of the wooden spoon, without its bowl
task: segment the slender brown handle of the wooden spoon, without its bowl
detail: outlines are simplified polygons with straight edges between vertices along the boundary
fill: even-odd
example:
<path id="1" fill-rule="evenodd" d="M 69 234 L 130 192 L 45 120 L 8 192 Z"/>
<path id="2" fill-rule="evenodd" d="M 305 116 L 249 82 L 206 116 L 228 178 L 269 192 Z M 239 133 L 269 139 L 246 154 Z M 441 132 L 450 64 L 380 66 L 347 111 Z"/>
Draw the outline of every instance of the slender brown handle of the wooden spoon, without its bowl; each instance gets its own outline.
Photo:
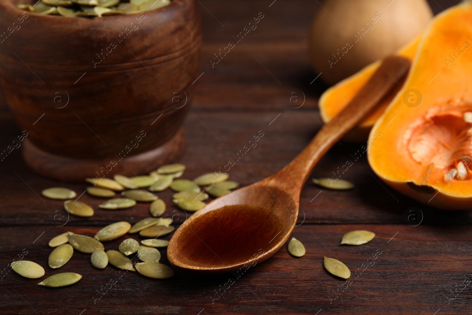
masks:
<path id="1" fill-rule="evenodd" d="M 282 186 L 292 196 L 300 196 L 304 182 L 321 157 L 401 82 L 409 67 L 410 61 L 403 57 L 385 58 L 351 102 L 318 131 L 292 162 L 267 178 L 266 183 Z"/>

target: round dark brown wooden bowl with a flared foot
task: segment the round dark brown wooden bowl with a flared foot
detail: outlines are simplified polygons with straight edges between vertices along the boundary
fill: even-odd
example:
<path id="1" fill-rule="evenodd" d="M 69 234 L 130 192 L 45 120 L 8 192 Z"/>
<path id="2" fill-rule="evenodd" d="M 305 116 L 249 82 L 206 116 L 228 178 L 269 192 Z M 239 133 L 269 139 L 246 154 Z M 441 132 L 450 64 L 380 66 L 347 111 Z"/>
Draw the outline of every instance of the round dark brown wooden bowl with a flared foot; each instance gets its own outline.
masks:
<path id="1" fill-rule="evenodd" d="M 64 181 L 134 176 L 183 153 L 202 43 L 194 0 L 93 18 L 18 3 L 0 0 L 0 86 L 33 170 Z"/>

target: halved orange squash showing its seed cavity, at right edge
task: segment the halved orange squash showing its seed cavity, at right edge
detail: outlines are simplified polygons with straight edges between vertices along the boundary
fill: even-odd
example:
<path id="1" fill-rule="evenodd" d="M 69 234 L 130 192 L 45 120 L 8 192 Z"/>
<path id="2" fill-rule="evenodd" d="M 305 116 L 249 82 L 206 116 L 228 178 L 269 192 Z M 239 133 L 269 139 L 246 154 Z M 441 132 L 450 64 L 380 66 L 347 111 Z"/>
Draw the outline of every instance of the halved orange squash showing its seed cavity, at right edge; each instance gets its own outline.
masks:
<path id="1" fill-rule="evenodd" d="M 439 14 L 425 31 L 405 84 L 371 130 L 380 136 L 369 163 L 388 185 L 424 204 L 471 209 L 471 116 L 468 2 Z"/>

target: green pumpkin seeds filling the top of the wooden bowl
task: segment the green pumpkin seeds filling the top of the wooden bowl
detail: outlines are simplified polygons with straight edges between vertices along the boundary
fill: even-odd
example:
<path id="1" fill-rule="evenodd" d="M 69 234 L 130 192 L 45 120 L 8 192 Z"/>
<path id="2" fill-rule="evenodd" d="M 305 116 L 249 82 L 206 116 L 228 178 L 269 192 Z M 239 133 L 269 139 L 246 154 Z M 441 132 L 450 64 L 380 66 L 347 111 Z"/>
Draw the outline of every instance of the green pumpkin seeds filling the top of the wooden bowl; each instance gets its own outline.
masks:
<path id="1" fill-rule="evenodd" d="M 105 17 L 159 9 L 170 0 L 41 0 L 34 5 L 18 4 L 18 9 L 63 17 Z"/>

